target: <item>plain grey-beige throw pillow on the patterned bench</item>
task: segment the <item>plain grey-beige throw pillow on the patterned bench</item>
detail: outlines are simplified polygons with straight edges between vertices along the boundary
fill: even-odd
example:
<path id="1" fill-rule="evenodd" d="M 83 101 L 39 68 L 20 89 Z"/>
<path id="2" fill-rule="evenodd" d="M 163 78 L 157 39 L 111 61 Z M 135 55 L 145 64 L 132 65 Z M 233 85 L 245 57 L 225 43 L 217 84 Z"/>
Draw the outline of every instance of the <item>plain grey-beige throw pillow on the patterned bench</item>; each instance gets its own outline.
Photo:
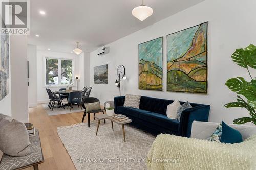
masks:
<path id="1" fill-rule="evenodd" d="M 30 153 L 30 141 L 26 126 L 7 115 L 0 114 L 0 150 L 10 156 Z"/>

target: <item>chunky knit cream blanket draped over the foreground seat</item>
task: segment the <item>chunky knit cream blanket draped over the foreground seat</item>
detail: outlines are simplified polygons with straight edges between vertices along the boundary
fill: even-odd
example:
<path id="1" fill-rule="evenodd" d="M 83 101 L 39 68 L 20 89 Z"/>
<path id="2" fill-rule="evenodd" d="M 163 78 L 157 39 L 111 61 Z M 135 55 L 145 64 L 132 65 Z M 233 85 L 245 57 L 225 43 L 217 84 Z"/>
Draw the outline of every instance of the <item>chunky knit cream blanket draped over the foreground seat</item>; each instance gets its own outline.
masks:
<path id="1" fill-rule="evenodd" d="M 256 135 L 226 144 L 160 134 L 147 155 L 147 167 L 161 169 L 256 169 Z"/>

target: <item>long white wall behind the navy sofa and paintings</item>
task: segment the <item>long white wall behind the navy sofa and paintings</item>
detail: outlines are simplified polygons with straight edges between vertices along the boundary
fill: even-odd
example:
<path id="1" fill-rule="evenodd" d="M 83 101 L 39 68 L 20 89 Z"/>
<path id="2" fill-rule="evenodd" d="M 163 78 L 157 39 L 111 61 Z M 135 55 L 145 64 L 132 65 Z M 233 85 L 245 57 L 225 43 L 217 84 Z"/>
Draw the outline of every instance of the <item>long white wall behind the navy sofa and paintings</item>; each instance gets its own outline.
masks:
<path id="1" fill-rule="evenodd" d="M 123 81 L 121 94 L 141 94 L 156 98 L 190 101 L 211 105 L 209 120 L 232 123 L 233 119 L 247 115 L 241 108 L 225 108 L 223 105 L 236 100 L 236 94 L 224 85 L 226 80 L 243 76 L 249 80 L 246 69 L 231 60 L 236 48 L 256 44 L 256 1 L 206 0 L 200 4 L 161 20 L 154 25 L 121 38 L 111 44 L 110 53 L 97 56 L 98 50 L 90 53 L 90 82 L 92 96 L 105 102 L 119 95 L 114 85 L 118 65 L 126 68 L 127 80 Z M 166 35 L 208 21 L 208 95 L 166 92 Z M 163 36 L 163 92 L 138 90 L 138 44 Z M 109 84 L 93 83 L 93 67 L 108 64 Z M 254 76 L 256 74 L 255 70 Z"/>

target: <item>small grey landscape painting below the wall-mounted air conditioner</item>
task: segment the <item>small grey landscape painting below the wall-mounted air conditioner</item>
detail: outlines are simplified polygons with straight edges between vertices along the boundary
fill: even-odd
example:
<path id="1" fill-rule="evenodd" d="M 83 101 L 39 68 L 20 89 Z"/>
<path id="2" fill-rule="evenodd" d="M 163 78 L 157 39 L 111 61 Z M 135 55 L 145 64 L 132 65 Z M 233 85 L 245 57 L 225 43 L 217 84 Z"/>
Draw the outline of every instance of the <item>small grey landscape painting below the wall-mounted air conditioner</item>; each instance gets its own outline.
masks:
<path id="1" fill-rule="evenodd" d="M 108 84 L 108 64 L 94 67 L 94 83 Z"/>

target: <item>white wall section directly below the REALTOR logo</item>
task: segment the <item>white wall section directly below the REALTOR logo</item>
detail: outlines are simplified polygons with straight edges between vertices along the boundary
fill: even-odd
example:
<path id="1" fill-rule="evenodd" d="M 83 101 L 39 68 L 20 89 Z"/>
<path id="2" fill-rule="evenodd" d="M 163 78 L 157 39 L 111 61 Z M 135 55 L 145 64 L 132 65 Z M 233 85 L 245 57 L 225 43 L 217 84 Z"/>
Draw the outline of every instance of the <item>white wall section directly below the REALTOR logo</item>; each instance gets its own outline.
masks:
<path id="1" fill-rule="evenodd" d="M 28 122 L 27 36 L 10 36 L 12 117 Z"/>

